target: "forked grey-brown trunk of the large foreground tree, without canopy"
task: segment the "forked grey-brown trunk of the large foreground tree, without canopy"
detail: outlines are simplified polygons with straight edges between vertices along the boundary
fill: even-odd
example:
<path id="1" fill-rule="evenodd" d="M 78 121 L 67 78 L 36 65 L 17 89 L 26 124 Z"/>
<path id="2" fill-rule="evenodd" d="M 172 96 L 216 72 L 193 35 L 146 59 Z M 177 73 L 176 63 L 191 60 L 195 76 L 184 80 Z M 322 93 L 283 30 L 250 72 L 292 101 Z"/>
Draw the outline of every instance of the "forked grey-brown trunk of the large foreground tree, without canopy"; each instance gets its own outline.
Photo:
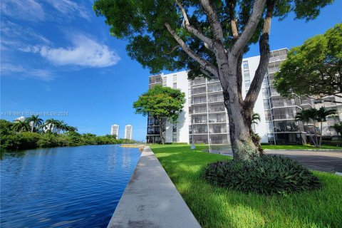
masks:
<path id="1" fill-rule="evenodd" d="M 245 100 L 242 99 L 240 88 L 241 81 L 239 78 L 242 77 L 240 75 L 242 72 L 239 70 L 240 56 L 229 53 L 227 58 L 224 58 L 224 51 L 217 52 L 219 79 L 223 88 L 224 106 L 227 108 L 229 118 L 229 136 L 233 157 L 237 160 L 250 160 L 253 157 L 259 157 L 262 153 L 259 142 L 253 140 L 251 125 L 255 100 L 257 100 L 269 63 L 268 41 L 269 36 L 264 33 L 259 42 L 260 63 Z M 227 59 L 227 62 L 224 62 L 224 59 Z"/>

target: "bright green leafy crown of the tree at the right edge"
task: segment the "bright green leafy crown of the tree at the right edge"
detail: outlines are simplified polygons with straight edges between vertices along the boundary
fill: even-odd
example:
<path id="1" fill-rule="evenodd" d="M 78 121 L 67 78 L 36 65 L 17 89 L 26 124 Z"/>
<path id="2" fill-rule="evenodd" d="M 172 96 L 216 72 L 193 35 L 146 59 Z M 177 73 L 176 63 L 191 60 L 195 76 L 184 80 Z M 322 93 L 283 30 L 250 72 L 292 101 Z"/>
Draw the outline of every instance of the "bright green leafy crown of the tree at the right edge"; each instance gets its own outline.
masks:
<path id="1" fill-rule="evenodd" d="M 342 23 L 326 33 L 291 48 L 274 77 L 274 86 L 283 96 L 336 95 L 342 93 Z"/>

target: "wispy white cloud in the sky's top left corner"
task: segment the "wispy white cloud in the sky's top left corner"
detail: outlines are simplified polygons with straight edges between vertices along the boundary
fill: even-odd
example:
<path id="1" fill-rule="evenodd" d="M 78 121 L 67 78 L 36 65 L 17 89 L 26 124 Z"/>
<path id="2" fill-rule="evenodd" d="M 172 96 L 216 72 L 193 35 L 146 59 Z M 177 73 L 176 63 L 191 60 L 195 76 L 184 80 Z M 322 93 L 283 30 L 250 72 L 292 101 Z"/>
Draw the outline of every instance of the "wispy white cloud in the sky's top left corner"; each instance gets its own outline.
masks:
<path id="1" fill-rule="evenodd" d="M 1 14 L 28 21 L 43 21 L 45 13 L 35 0 L 1 0 Z"/>

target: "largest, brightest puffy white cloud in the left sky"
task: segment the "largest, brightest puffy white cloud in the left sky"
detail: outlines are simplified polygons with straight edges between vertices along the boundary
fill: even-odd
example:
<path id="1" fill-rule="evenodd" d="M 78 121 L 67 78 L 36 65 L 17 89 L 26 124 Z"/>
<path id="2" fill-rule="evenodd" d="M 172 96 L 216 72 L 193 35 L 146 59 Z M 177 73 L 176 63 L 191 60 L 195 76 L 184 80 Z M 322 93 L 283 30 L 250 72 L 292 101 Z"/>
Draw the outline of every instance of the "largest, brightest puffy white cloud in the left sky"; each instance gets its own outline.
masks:
<path id="1" fill-rule="evenodd" d="M 76 65 L 85 67 L 106 67 L 113 66 L 120 57 L 108 46 L 84 35 L 73 35 L 71 37 L 73 46 L 68 48 L 51 48 L 50 46 L 31 46 L 24 51 L 40 53 L 53 64 L 58 66 Z"/>

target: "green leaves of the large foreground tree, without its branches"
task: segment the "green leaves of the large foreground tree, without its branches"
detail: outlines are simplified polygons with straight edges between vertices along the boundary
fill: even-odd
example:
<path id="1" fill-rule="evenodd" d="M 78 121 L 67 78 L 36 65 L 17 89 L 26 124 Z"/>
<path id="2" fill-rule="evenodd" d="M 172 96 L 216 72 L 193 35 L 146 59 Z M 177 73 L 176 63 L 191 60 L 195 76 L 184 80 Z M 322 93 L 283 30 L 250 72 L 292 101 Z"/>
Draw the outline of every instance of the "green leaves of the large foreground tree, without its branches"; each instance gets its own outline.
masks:
<path id="1" fill-rule="evenodd" d="M 227 2 L 227 1 L 226 1 Z M 224 46 L 229 49 L 234 43 L 229 21 L 229 10 L 224 1 L 211 1 L 217 14 L 217 20 L 222 26 Z M 309 21 L 318 16 L 322 7 L 331 4 L 333 0 L 281 0 L 276 1 L 274 17 L 284 19 L 291 11 L 296 19 Z M 182 5 L 187 11 L 190 24 L 202 31 L 204 36 L 213 37 L 212 27 L 207 20 L 199 1 L 183 0 Z M 239 21 L 239 31 L 245 28 L 252 13 L 254 1 L 237 1 L 234 16 Z M 110 26 L 110 34 L 116 38 L 128 40 L 128 55 L 150 69 L 151 73 L 160 71 L 175 71 L 182 68 L 190 70 L 190 78 L 202 75 L 199 63 L 182 51 L 175 39 L 167 32 L 165 22 L 175 30 L 187 46 L 203 59 L 217 66 L 214 53 L 205 48 L 204 43 L 181 26 L 182 14 L 174 0 L 96 0 L 93 10 L 97 16 L 105 16 L 105 24 Z M 249 43 L 256 43 L 261 36 L 264 19 L 261 19 L 254 36 Z M 244 51 L 247 51 L 245 48 Z"/>

